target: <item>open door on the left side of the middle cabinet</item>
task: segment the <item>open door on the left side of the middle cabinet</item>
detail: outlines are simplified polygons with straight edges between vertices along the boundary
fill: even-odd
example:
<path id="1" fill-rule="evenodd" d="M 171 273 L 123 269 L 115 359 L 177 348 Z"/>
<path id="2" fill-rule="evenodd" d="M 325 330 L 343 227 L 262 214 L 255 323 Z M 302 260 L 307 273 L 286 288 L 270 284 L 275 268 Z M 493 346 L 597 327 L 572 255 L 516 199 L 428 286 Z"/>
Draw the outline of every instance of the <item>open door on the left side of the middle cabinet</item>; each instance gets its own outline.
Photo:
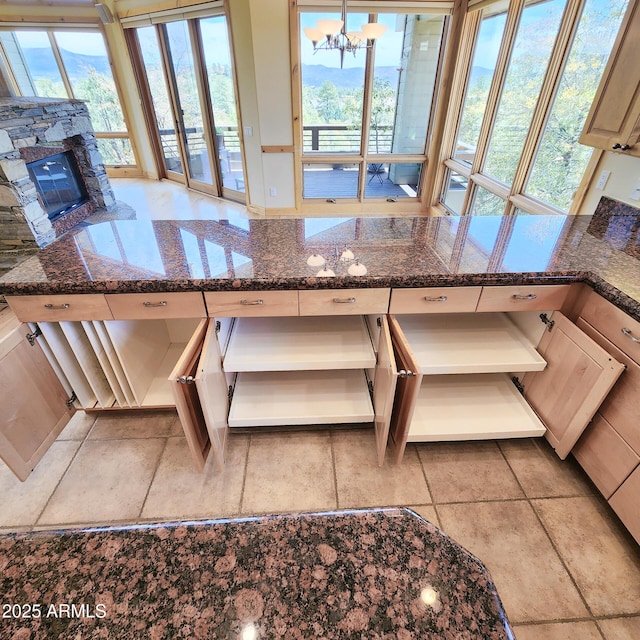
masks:
<path id="1" fill-rule="evenodd" d="M 218 468 L 222 468 L 229 433 L 229 393 L 222 368 L 218 327 L 217 322 L 209 322 L 196 373 L 196 388 L 209 433 L 211 453 Z"/>

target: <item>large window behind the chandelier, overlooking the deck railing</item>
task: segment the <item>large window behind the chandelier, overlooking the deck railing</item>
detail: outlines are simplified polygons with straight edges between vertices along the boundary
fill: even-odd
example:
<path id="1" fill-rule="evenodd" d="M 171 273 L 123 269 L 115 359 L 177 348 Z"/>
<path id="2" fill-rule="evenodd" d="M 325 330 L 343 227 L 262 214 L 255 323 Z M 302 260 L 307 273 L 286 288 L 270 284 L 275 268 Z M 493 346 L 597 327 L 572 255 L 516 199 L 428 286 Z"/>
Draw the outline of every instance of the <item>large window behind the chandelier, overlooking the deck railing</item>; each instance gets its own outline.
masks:
<path id="1" fill-rule="evenodd" d="M 299 14 L 304 199 L 419 199 L 446 19 L 384 13 L 385 4 L 389 11 L 379 3 L 381 12 L 347 14 L 347 32 L 386 27 L 355 54 L 316 50 L 304 35 L 338 13 Z"/>

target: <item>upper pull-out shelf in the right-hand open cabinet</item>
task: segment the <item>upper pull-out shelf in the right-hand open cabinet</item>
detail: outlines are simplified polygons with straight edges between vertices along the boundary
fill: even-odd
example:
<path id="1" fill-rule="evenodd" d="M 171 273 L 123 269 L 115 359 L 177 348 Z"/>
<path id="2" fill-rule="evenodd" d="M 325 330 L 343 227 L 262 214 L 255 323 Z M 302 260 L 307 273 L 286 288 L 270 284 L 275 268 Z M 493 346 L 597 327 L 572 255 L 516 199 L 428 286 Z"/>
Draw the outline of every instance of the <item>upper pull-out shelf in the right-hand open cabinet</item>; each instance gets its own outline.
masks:
<path id="1" fill-rule="evenodd" d="M 396 319 L 425 375 L 542 371 L 547 364 L 503 313 Z"/>

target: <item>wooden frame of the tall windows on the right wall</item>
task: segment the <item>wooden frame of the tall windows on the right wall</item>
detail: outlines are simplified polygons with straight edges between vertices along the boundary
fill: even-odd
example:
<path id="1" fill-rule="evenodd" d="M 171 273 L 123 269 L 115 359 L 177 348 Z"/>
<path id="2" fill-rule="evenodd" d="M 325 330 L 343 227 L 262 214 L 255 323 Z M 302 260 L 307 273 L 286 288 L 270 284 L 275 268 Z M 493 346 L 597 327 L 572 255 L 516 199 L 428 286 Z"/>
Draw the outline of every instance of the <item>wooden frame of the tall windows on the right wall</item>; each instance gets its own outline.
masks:
<path id="1" fill-rule="evenodd" d="M 515 43 L 518 26 L 522 12 L 526 6 L 526 0 L 511 0 L 507 7 L 507 20 L 504 28 L 500 51 L 496 62 L 494 76 L 489 89 L 487 106 L 480 128 L 480 135 L 476 154 L 471 166 L 462 163 L 454 158 L 455 145 L 457 142 L 458 130 L 462 117 L 462 109 L 467 90 L 467 81 L 471 71 L 471 63 L 477 37 L 482 20 L 482 9 L 487 6 L 497 5 L 496 2 L 479 1 L 470 4 L 465 15 L 463 24 L 462 43 L 466 50 L 460 53 L 459 59 L 464 62 L 456 66 L 454 74 L 455 102 L 450 102 L 452 113 L 446 123 L 444 132 L 443 154 L 444 160 L 439 168 L 436 178 L 436 189 L 434 189 L 433 206 L 437 207 L 445 214 L 455 214 L 444 203 L 444 196 L 447 192 L 449 174 L 455 171 L 468 179 L 468 187 L 464 197 L 461 215 L 468 215 L 473 207 L 473 200 L 477 187 L 483 187 L 495 195 L 501 197 L 505 202 L 503 215 L 512 215 L 516 208 L 531 214 L 576 214 L 586 195 L 588 185 L 597 166 L 597 160 L 601 156 L 597 150 L 592 151 L 592 155 L 582 176 L 580 184 L 576 188 L 574 198 L 568 211 L 563 211 L 552 204 L 543 202 L 525 193 L 529 176 L 533 170 L 536 153 L 542 141 L 547 120 L 553 108 L 554 99 L 558 91 L 562 74 L 571 52 L 571 47 L 580 23 L 580 17 L 584 8 L 585 0 L 567 0 L 563 10 L 558 33 L 556 35 L 551 57 L 544 74 L 542 86 L 536 98 L 531 124 L 524 140 L 523 149 L 516 167 L 514 178 L 510 185 L 505 185 L 492 178 L 484 172 L 484 164 L 487 151 L 493 134 L 500 98 L 504 88 L 511 53 Z M 466 43 L 466 44 L 465 44 Z"/>

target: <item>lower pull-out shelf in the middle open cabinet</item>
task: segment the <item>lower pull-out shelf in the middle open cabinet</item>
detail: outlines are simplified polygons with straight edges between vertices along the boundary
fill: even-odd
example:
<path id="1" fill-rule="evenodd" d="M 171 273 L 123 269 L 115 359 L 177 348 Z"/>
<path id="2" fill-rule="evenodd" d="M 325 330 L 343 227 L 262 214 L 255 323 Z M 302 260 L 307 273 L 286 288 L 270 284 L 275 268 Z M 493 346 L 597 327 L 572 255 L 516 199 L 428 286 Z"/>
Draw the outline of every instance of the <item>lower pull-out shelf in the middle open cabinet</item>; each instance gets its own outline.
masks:
<path id="1" fill-rule="evenodd" d="M 364 371 L 239 373 L 230 427 L 372 422 Z"/>

